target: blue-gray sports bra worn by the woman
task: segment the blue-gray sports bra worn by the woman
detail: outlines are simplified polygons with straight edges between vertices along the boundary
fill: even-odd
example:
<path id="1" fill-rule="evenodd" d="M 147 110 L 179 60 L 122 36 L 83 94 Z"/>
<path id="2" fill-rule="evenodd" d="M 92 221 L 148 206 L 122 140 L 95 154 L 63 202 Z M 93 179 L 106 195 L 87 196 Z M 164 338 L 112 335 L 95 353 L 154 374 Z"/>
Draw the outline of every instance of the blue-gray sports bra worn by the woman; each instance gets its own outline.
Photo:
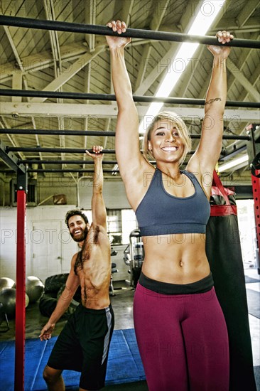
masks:
<path id="1" fill-rule="evenodd" d="M 136 209 L 141 236 L 206 232 L 210 203 L 193 173 L 180 172 L 190 178 L 195 193 L 185 198 L 170 195 L 163 186 L 162 172 L 156 168 L 148 191 Z"/>

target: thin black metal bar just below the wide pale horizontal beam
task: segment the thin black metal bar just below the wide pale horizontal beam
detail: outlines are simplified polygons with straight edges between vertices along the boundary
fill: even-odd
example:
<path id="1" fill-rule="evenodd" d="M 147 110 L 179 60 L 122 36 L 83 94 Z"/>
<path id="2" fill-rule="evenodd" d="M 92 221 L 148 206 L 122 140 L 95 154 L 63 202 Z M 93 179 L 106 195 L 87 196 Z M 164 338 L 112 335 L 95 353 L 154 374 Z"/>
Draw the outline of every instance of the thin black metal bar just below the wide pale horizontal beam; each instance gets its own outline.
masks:
<path id="1" fill-rule="evenodd" d="M 116 136 L 116 132 L 103 130 L 58 130 L 58 129 L 0 129 L 0 134 L 64 134 L 65 136 Z M 140 133 L 140 135 L 143 133 Z M 192 139 L 200 139 L 200 134 L 190 134 Z M 225 140 L 250 140 L 250 136 L 238 136 L 236 134 L 223 134 Z"/>

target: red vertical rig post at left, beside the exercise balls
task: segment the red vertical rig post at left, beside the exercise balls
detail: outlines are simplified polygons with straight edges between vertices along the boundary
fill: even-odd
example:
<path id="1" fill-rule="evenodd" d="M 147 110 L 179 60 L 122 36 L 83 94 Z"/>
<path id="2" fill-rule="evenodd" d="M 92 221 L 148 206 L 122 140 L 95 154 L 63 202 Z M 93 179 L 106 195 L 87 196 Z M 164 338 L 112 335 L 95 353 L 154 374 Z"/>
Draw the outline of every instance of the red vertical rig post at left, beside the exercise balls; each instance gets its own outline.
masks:
<path id="1" fill-rule="evenodd" d="M 26 336 L 26 192 L 17 191 L 16 249 L 16 358 L 14 390 L 24 390 L 24 356 Z"/>

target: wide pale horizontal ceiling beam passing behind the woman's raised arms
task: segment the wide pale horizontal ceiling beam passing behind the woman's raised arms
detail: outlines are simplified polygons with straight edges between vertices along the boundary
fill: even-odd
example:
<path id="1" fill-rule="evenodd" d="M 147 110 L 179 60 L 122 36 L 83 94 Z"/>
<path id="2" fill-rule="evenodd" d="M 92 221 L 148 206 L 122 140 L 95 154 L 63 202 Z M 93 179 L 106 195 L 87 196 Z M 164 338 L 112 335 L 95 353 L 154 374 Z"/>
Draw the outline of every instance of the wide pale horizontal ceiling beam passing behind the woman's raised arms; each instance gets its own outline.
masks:
<path id="1" fill-rule="evenodd" d="M 136 105 L 140 116 L 146 114 L 147 106 Z M 167 109 L 168 107 L 164 107 Z M 204 117 L 204 109 L 197 107 L 172 107 L 183 118 Z M 117 107 L 112 105 L 82 105 L 72 103 L 13 103 L 1 102 L 1 114 L 11 117 L 117 117 Z M 224 120 L 259 121 L 259 110 L 254 109 L 225 109 Z"/>

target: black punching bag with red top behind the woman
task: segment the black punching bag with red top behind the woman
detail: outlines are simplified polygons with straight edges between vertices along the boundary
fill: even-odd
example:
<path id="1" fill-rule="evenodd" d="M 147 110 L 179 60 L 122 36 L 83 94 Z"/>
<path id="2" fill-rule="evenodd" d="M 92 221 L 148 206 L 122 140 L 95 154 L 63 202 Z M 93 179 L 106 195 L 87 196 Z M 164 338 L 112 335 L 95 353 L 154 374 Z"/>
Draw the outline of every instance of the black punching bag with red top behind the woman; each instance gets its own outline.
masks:
<path id="1" fill-rule="evenodd" d="M 256 390 L 242 252 L 234 193 L 214 173 L 206 252 L 229 334 L 229 390 Z M 214 332 L 214 331 L 213 331 Z"/>

